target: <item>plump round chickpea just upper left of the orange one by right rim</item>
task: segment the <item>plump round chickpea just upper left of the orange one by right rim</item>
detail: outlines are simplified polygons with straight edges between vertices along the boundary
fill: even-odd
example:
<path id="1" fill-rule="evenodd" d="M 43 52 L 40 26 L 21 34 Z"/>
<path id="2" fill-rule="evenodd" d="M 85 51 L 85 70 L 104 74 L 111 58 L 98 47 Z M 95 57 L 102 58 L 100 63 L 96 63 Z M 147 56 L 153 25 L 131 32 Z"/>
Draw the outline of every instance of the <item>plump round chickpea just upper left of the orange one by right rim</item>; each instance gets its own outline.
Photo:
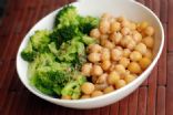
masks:
<path id="1" fill-rule="evenodd" d="M 130 59 L 131 61 L 140 61 L 142 59 L 142 54 L 138 51 L 133 51 L 131 54 L 130 54 Z"/>

